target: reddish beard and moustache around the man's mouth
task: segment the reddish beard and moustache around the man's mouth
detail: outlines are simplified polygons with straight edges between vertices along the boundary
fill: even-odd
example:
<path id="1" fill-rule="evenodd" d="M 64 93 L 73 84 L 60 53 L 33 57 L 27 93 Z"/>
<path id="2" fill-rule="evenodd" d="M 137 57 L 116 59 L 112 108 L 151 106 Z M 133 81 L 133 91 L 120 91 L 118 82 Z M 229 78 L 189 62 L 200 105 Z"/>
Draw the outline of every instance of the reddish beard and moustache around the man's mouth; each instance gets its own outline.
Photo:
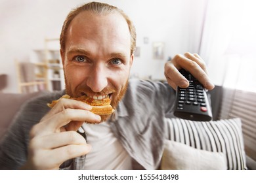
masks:
<path id="1" fill-rule="evenodd" d="M 104 90 L 102 90 L 101 92 L 95 93 L 91 90 L 91 88 L 89 88 L 88 86 L 84 86 L 84 85 L 78 86 L 76 88 L 76 90 L 74 92 L 72 92 L 71 86 L 68 83 L 68 79 L 66 78 L 66 75 L 65 75 L 65 84 L 66 84 L 66 93 L 68 95 L 70 95 L 71 97 L 79 97 L 79 96 L 81 96 L 81 93 L 86 93 L 87 95 L 107 95 L 107 94 L 111 93 L 110 105 L 112 106 L 112 108 L 114 108 L 116 110 L 117 105 L 119 104 L 119 101 L 121 101 L 121 99 L 123 98 L 123 96 L 125 95 L 125 93 L 127 91 L 129 79 L 126 80 L 125 85 L 121 88 L 121 90 L 119 92 L 118 92 L 117 88 L 107 87 L 107 88 L 104 88 Z M 106 122 L 106 120 L 108 120 L 114 114 L 115 114 L 115 112 L 113 114 L 100 115 L 100 117 L 101 117 L 100 122 Z"/>

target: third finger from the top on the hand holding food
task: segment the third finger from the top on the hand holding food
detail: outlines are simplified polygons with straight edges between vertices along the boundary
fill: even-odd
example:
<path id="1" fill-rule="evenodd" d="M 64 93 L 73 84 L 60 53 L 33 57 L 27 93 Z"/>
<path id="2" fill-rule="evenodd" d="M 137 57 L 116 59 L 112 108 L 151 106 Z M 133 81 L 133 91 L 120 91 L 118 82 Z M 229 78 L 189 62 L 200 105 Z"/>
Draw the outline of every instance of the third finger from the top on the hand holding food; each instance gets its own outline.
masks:
<path id="1" fill-rule="evenodd" d="M 32 139 L 30 142 L 33 149 L 51 150 L 69 144 L 87 144 L 85 138 L 75 131 L 53 133 Z"/>

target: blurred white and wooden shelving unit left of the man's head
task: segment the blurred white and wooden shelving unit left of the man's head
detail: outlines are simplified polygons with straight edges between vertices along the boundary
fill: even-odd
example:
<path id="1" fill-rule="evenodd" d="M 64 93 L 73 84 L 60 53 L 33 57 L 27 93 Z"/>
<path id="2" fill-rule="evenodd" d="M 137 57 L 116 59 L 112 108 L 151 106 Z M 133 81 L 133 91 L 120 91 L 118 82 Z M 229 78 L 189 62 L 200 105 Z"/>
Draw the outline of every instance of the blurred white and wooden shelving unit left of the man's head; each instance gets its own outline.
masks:
<path id="1" fill-rule="evenodd" d="M 64 90 L 64 71 L 60 56 L 59 39 L 45 39 L 43 48 L 33 49 L 30 54 L 30 63 L 33 63 L 33 82 L 23 82 L 19 78 L 19 91 L 34 88 L 35 90 Z M 26 73 L 22 73 L 26 75 Z M 29 81 L 30 81 L 29 80 Z M 32 87 L 34 86 L 34 87 Z M 30 90 L 29 92 L 31 92 Z"/>

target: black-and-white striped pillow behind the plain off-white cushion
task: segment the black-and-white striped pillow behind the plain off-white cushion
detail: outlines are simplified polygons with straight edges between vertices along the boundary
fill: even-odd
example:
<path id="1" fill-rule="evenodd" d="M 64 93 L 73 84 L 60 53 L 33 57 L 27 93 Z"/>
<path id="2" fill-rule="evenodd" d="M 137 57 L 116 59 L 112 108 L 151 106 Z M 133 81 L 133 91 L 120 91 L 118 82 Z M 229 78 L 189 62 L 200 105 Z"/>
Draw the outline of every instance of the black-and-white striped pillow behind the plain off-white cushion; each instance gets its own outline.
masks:
<path id="1" fill-rule="evenodd" d="M 226 154 L 228 169 L 247 169 L 239 118 L 212 122 L 167 118 L 167 126 L 169 140 L 201 150 L 223 152 Z"/>

